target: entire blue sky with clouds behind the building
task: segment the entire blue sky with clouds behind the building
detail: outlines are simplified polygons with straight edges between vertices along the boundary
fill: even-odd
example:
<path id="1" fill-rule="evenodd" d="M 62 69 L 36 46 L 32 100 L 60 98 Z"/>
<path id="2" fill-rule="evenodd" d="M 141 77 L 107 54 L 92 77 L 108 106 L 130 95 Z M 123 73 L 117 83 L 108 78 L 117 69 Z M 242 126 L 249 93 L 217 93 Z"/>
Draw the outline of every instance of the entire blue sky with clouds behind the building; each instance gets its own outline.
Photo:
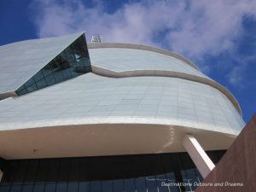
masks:
<path id="1" fill-rule="evenodd" d="M 255 0 L 1 0 L 0 45 L 85 31 L 186 56 L 256 109 Z"/>

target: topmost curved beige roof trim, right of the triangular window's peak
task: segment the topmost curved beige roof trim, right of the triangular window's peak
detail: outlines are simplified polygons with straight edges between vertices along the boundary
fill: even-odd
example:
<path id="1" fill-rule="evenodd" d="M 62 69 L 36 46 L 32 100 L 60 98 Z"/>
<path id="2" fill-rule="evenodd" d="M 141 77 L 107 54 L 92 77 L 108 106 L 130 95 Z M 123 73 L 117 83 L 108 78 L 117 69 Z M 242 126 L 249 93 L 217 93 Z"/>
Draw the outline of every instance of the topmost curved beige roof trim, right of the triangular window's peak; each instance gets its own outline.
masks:
<path id="1" fill-rule="evenodd" d="M 159 49 L 154 48 L 148 45 L 143 44 L 124 44 L 124 43 L 99 43 L 99 44 L 87 44 L 88 49 L 99 49 L 99 48 L 124 48 L 124 49 L 143 49 L 143 50 L 149 50 L 156 53 L 160 53 L 163 55 L 169 55 L 173 56 L 181 61 L 184 61 L 187 63 L 190 67 L 195 68 L 196 70 L 200 71 L 200 69 L 193 63 L 192 61 L 189 61 L 187 58 L 183 57 L 182 55 L 178 55 L 177 53 L 174 53 L 172 51 L 166 50 L 166 49 Z"/>

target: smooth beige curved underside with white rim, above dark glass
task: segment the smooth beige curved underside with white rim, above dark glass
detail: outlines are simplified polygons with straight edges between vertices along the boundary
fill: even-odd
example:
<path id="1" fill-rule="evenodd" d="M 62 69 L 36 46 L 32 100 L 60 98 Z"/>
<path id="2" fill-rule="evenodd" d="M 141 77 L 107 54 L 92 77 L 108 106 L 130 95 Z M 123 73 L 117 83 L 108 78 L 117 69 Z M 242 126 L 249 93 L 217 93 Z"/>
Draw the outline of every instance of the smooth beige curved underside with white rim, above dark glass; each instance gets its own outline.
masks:
<path id="1" fill-rule="evenodd" d="M 209 125 L 200 125 L 203 129 L 190 128 L 189 126 L 196 124 L 183 120 L 180 120 L 183 125 L 169 125 L 177 119 L 173 121 L 148 118 L 135 120 L 123 117 L 111 118 L 107 122 L 107 120 L 94 118 L 88 119 L 87 124 L 84 119 L 81 122 L 78 119 L 72 119 L 70 122 L 73 122 L 73 125 L 64 125 L 68 120 L 57 120 L 63 125 L 49 125 L 48 122 L 43 121 L 43 126 L 41 122 L 35 122 L 37 123 L 35 128 L 1 131 L 0 144 L 3 146 L 1 148 L 3 158 L 37 159 L 184 152 L 182 141 L 183 136 L 187 134 L 194 135 L 206 150 L 219 150 L 230 148 L 239 133 L 228 127 L 221 127 L 224 129 L 223 132 L 213 130 L 214 126 Z M 157 122 L 162 125 L 155 124 Z M 19 139 L 20 137 L 23 139 Z M 13 138 L 11 143 L 9 138 Z M 47 143 L 45 143 L 46 139 Z M 35 140 L 37 143 L 34 142 Z M 148 143 L 148 140 L 154 142 Z M 212 143 L 212 141 L 218 142 Z M 60 150 L 60 143 L 65 143 L 63 146 L 65 150 Z M 81 147 L 78 148 L 78 145 Z M 31 146 L 37 148 L 38 153 L 34 153 Z"/>

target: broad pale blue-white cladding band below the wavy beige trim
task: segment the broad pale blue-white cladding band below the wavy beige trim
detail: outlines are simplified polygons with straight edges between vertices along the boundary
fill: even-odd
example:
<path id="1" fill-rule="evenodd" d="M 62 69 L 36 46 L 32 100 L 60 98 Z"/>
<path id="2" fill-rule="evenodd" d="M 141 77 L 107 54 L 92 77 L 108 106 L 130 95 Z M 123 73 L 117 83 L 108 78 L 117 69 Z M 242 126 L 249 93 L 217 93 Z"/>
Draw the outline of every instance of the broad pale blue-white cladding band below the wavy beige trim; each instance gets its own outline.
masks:
<path id="1" fill-rule="evenodd" d="M 191 128 L 233 135 L 244 126 L 230 100 L 215 88 L 167 77 L 112 79 L 87 73 L 0 102 L 1 130 L 21 123 L 40 127 L 47 120 L 72 119 L 72 125 L 84 118 L 131 118 L 134 123 L 137 118 L 146 119 L 145 123 L 175 119 Z"/>

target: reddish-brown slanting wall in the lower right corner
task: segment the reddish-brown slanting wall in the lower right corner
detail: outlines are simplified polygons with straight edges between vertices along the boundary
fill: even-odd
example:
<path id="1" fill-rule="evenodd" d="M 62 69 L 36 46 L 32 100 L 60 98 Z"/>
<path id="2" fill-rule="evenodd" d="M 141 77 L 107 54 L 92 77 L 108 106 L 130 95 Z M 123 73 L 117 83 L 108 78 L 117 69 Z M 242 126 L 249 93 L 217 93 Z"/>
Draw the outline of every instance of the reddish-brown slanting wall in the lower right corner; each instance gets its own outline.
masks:
<path id="1" fill-rule="evenodd" d="M 195 192 L 247 192 L 256 189 L 256 114 Z"/>

